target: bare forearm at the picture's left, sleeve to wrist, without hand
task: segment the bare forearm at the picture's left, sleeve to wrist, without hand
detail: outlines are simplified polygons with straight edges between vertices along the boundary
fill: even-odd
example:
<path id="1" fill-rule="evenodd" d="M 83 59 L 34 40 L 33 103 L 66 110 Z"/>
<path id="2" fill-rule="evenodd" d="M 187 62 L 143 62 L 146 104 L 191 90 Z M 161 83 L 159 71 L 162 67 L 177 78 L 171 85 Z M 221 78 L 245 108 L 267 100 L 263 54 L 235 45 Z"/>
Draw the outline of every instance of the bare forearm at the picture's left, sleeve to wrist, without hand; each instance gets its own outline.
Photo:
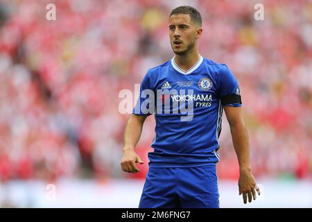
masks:
<path id="1" fill-rule="evenodd" d="M 138 116 L 130 117 L 127 126 L 125 126 L 125 146 L 123 149 L 135 149 L 137 142 L 141 137 L 144 119 Z"/>

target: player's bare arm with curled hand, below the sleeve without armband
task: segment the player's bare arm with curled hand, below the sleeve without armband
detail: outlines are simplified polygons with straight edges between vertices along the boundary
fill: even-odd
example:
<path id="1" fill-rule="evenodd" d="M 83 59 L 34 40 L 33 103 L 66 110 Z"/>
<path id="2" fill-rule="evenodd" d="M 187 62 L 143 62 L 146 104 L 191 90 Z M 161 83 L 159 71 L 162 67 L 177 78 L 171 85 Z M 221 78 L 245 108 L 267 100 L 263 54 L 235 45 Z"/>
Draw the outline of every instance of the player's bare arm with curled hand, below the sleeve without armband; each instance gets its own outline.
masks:
<path id="1" fill-rule="evenodd" d="M 123 147 L 123 157 L 121 159 L 121 169 L 125 172 L 137 173 L 139 172 L 139 169 L 137 168 L 136 163 L 144 164 L 141 157 L 135 152 L 135 146 L 141 137 L 146 117 L 148 116 L 132 114 L 125 126 L 125 146 Z"/>

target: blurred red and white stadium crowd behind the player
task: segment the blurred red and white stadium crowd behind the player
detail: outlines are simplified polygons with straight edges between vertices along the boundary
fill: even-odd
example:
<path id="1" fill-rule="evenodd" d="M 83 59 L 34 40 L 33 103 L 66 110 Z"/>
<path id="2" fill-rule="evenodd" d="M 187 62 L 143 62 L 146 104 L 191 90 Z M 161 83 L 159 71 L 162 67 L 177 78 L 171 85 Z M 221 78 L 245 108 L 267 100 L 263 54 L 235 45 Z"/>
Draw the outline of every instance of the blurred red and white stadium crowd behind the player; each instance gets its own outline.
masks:
<path id="1" fill-rule="evenodd" d="M 239 80 L 255 176 L 311 176 L 312 2 L 261 1 L 263 21 L 256 3 L 0 0 L 0 181 L 143 177 L 148 164 L 120 169 L 130 114 L 119 92 L 173 57 L 168 15 L 184 4 L 202 14 L 200 54 Z M 145 160 L 154 127 L 149 117 L 137 148 Z M 218 176 L 237 178 L 227 121 L 220 144 Z"/>

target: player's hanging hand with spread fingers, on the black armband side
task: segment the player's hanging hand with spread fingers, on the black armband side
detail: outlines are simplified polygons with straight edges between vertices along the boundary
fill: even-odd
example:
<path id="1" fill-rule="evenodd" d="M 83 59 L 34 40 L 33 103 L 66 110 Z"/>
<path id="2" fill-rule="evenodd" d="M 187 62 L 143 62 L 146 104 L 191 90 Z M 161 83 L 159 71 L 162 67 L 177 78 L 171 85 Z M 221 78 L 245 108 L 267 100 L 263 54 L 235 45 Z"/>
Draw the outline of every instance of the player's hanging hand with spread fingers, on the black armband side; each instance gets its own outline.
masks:
<path id="1" fill-rule="evenodd" d="M 252 202 L 252 197 L 256 200 L 256 191 L 260 195 L 260 189 L 257 186 L 256 180 L 250 170 L 240 172 L 239 176 L 239 195 L 243 194 L 243 201 L 246 204 Z"/>

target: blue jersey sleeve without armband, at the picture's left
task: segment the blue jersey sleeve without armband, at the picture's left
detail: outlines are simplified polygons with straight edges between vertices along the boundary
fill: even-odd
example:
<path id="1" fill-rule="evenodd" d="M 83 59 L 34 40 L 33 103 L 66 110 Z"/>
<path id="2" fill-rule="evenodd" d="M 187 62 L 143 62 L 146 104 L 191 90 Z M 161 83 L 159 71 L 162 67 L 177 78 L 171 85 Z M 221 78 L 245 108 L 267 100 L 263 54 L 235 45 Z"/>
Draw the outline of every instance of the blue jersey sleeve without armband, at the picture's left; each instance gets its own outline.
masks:
<path id="1" fill-rule="evenodd" d="M 149 116 L 155 112 L 155 92 L 151 82 L 150 71 L 148 71 L 141 82 L 139 99 L 132 110 L 132 114 Z"/>

